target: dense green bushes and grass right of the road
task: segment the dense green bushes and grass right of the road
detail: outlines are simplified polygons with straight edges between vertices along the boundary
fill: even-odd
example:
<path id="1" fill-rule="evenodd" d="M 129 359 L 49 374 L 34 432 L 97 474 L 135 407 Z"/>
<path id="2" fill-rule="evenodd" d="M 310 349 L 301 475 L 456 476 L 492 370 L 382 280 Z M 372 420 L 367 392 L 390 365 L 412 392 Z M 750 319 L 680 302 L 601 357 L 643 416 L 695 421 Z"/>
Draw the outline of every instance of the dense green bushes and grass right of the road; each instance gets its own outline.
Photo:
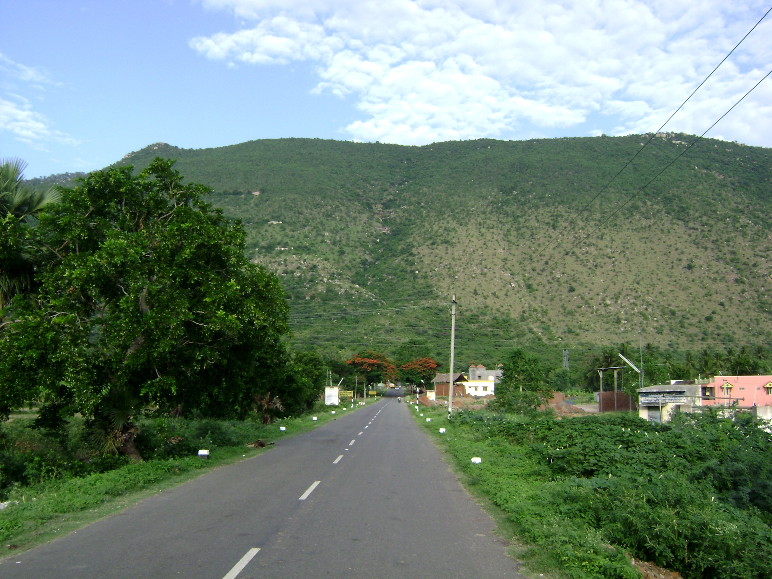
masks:
<path id="1" fill-rule="evenodd" d="M 628 554 L 683 577 L 748 579 L 772 577 L 772 440 L 762 426 L 710 412 L 659 425 L 476 411 L 459 413 L 438 442 L 507 514 L 537 572 L 638 577 Z"/>

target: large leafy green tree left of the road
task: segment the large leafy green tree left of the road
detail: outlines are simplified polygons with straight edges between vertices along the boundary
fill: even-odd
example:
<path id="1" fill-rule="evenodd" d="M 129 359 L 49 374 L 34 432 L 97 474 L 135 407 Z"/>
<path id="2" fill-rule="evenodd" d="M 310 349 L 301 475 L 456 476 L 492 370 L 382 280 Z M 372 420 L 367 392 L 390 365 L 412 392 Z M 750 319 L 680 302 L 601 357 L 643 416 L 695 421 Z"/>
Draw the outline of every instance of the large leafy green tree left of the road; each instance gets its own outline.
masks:
<path id="1" fill-rule="evenodd" d="M 160 158 L 138 176 L 110 168 L 61 191 L 33 232 L 45 249 L 39 306 L 17 297 L 5 310 L 0 413 L 43 397 L 99 415 L 125 391 L 243 416 L 254 394 L 283 396 L 283 290 L 245 259 L 244 229 L 207 193 Z"/>

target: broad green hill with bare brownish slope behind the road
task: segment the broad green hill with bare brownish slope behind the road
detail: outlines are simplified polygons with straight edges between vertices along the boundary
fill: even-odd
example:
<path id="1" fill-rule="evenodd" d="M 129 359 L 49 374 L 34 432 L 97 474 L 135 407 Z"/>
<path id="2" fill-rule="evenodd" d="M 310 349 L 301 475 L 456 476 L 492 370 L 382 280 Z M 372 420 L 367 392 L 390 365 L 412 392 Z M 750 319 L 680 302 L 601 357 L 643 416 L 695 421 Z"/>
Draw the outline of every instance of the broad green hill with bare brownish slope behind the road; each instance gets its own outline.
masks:
<path id="1" fill-rule="evenodd" d="M 452 293 L 459 364 L 495 364 L 515 344 L 557 361 L 563 348 L 576 359 L 639 339 L 769 342 L 769 149 L 700 141 L 581 242 L 694 138 L 653 137 L 558 237 L 649 137 L 157 143 L 119 164 L 176 158 L 212 187 L 249 232 L 249 257 L 283 280 L 293 341 L 329 355 L 367 346 L 445 361 Z"/>

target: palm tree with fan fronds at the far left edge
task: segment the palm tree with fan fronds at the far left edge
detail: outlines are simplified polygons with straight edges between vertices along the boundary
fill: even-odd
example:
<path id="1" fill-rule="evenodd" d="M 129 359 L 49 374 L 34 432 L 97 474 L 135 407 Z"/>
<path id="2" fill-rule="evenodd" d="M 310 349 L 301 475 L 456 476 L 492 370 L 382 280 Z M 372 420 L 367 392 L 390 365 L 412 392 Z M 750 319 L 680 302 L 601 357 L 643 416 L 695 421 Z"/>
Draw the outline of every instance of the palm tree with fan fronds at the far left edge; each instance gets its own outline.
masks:
<path id="1" fill-rule="evenodd" d="M 59 190 L 37 191 L 25 185 L 21 159 L 0 159 L 0 310 L 19 293 L 32 291 L 35 264 L 24 227 L 35 225 L 42 208 L 59 201 Z"/>

